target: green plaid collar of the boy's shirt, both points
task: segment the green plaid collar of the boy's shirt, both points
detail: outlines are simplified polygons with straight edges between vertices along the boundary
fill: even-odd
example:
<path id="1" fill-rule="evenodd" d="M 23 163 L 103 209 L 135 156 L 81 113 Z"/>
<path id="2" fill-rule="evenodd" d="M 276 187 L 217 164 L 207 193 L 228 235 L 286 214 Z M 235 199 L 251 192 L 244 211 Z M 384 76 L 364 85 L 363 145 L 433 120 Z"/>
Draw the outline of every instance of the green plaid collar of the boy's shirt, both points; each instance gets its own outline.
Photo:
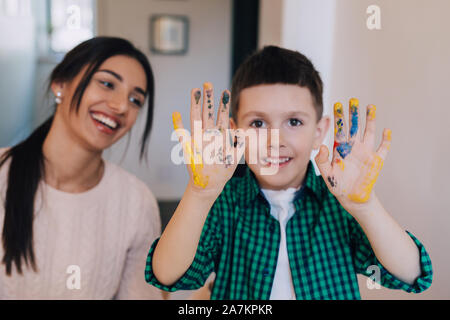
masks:
<path id="1" fill-rule="evenodd" d="M 302 187 L 297 192 L 296 197 L 294 198 L 294 205 L 296 210 L 299 208 L 299 203 L 305 193 L 309 193 L 318 201 L 318 203 L 322 203 L 322 198 L 326 194 L 327 187 L 322 181 L 321 176 L 317 176 L 314 170 L 314 165 L 312 161 L 309 161 L 308 167 L 306 169 L 306 175 L 303 182 Z M 242 185 L 243 189 L 246 192 L 238 192 L 238 202 L 241 208 L 246 208 L 254 205 L 255 200 L 258 200 L 257 197 L 261 197 L 260 201 L 267 203 L 264 195 L 261 192 L 261 188 L 259 187 L 258 181 L 256 180 L 255 174 L 250 170 L 248 166 L 246 166 L 245 174 L 242 177 Z M 268 205 L 268 203 L 267 203 Z M 269 206 L 269 205 L 268 205 Z"/>

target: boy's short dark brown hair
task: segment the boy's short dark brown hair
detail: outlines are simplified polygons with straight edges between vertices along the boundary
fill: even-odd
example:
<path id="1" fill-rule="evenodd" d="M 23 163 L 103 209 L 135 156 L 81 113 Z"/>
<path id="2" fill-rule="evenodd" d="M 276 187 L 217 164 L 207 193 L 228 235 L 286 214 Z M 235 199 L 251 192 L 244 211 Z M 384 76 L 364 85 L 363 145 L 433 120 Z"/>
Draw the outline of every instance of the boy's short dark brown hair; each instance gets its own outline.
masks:
<path id="1" fill-rule="evenodd" d="M 298 51 L 266 46 L 248 57 L 234 74 L 231 86 L 231 113 L 237 121 L 239 95 L 245 88 L 262 84 L 294 84 L 311 92 L 317 121 L 322 118 L 323 83 L 319 72 Z"/>

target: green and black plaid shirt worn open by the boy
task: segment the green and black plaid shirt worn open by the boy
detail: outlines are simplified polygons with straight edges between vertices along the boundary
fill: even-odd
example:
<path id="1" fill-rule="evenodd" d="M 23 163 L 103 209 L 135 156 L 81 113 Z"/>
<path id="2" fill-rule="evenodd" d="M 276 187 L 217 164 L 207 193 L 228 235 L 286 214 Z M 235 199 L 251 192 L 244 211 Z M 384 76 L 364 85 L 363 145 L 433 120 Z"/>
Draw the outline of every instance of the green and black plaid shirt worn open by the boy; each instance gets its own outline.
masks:
<path id="1" fill-rule="evenodd" d="M 294 207 L 286 241 L 297 299 L 361 299 L 356 275 L 372 276 L 372 265 L 379 267 L 380 284 L 387 288 L 418 293 L 431 285 L 430 257 L 414 235 L 406 231 L 420 252 L 422 274 L 409 285 L 380 264 L 362 228 L 316 176 L 312 162 Z M 147 257 L 148 283 L 166 291 L 193 290 L 215 272 L 211 299 L 269 299 L 280 226 L 248 168 L 243 177 L 226 184 L 206 218 L 194 261 L 170 287 L 159 283 L 152 272 L 158 240 Z"/>

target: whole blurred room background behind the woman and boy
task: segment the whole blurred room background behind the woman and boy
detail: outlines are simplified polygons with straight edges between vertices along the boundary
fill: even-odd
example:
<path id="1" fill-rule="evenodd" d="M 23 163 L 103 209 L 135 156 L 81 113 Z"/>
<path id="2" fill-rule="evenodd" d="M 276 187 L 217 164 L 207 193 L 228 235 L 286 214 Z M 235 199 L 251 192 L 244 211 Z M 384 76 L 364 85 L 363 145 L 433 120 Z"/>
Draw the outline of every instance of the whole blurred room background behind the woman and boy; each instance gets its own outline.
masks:
<path id="1" fill-rule="evenodd" d="M 447 0 L 0 0 L 0 147 L 53 112 L 47 79 L 65 52 L 92 36 L 124 37 L 152 64 L 154 125 L 148 161 L 138 157 L 144 115 L 105 157 L 148 184 L 165 225 L 188 178 L 171 161 L 172 112 L 187 122 L 190 90 L 210 81 L 218 96 L 264 45 L 298 50 L 322 75 L 325 114 L 351 97 L 377 105 L 378 142 L 383 127 L 393 142 L 376 192 L 433 262 L 424 293 L 369 290 L 360 277 L 363 299 L 449 299 L 449 14 Z"/>

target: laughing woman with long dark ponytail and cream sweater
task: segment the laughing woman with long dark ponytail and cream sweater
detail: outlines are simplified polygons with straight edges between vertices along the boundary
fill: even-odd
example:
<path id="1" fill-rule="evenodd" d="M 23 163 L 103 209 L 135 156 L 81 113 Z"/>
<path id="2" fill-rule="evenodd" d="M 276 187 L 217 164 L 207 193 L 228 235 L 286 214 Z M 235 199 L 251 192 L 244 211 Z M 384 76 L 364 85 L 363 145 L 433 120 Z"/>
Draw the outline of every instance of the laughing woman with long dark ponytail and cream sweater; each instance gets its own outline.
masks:
<path id="1" fill-rule="evenodd" d="M 153 74 L 126 40 L 97 37 L 56 66 L 56 111 L 25 141 L 0 150 L 0 299 L 160 299 L 145 259 L 161 222 L 146 185 L 102 159 L 149 97 Z"/>

